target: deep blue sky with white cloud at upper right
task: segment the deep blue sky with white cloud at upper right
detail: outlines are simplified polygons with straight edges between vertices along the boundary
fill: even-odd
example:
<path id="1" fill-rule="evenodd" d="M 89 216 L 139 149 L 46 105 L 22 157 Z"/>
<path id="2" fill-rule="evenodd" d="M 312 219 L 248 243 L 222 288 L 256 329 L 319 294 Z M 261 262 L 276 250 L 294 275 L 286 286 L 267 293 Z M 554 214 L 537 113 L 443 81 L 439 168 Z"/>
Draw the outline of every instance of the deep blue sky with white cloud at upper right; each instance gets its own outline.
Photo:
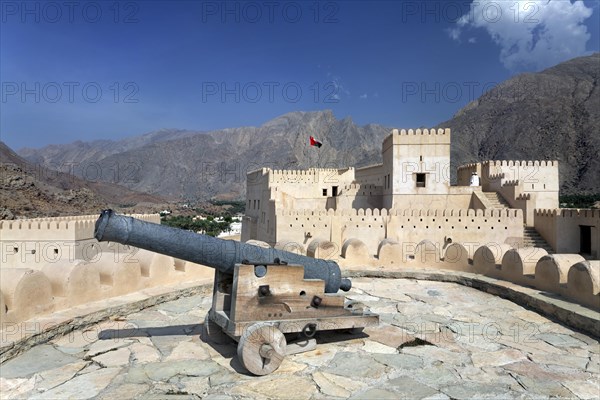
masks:
<path id="1" fill-rule="evenodd" d="M 323 109 L 428 127 L 600 49 L 597 0 L 0 4 L 0 139 L 14 149 Z"/>

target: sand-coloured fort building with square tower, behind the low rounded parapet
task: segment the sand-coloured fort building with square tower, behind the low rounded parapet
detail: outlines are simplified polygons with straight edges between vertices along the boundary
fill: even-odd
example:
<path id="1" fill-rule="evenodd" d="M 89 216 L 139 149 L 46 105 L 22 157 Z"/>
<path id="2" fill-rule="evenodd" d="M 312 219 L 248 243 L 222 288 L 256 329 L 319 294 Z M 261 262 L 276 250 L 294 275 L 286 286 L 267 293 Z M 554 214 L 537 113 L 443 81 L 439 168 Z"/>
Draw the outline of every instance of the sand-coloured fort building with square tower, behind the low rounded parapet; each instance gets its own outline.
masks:
<path id="1" fill-rule="evenodd" d="M 449 129 L 395 129 L 383 142 L 382 164 L 250 172 L 242 240 L 294 243 L 301 252 L 327 242 L 339 255 L 351 241 L 362 248 L 361 263 L 384 266 L 382 247 L 415 248 L 422 240 L 439 249 L 540 245 L 598 258 L 597 211 L 546 211 L 558 208 L 557 161 L 467 164 L 452 186 L 450 137 Z M 479 184 L 470 185 L 473 175 Z M 557 225 L 569 234 L 557 234 Z M 395 262 L 406 256 L 414 254 Z"/>

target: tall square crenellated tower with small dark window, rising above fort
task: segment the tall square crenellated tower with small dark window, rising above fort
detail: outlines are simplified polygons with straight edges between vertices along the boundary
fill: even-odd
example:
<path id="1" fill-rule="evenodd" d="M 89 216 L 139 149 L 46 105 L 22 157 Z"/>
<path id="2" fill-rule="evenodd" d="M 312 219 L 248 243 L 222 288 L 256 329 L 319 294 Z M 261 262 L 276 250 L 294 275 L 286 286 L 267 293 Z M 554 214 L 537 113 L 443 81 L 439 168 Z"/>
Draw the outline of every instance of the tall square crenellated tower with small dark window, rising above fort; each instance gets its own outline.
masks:
<path id="1" fill-rule="evenodd" d="M 382 154 L 384 207 L 405 208 L 397 195 L 448 194 L 450 129 L 394 129 L 383 141 Z"/>

